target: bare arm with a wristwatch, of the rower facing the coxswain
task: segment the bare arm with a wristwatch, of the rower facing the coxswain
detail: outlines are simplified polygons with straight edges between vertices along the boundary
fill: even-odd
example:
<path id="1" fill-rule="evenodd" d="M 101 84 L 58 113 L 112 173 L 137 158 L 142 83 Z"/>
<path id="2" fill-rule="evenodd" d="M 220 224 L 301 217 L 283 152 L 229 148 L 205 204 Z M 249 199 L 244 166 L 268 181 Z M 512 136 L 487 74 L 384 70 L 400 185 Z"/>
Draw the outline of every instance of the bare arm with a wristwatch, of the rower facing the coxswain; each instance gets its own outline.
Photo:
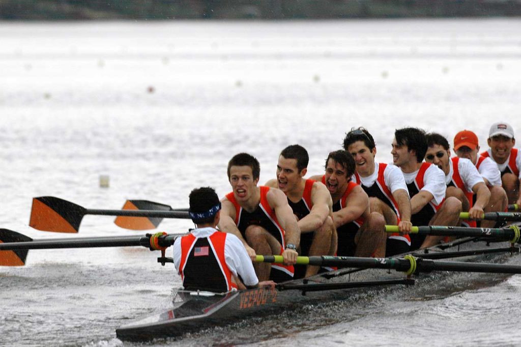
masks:
<path id="1" fill-rule="evenodd" d="M 286 231 L 286 235 L 284 236 L 286 244 L 294 244 L 298 247 L 300 244 L 300 229 L 294 217 L 293 210 L 288 205 L 288 198 L 282 190 L 270 188 L 266 194 L 266 199 L 268 200 L 269 206 L 275 210 L 275 215 L 282 229 Z M 284 252 L 282 252 L 284 263 L 290 265 L 295 264 L 297 255 L 298 253 L 296 253 L 295 250 L 286 247 L 284 248 Z"/>

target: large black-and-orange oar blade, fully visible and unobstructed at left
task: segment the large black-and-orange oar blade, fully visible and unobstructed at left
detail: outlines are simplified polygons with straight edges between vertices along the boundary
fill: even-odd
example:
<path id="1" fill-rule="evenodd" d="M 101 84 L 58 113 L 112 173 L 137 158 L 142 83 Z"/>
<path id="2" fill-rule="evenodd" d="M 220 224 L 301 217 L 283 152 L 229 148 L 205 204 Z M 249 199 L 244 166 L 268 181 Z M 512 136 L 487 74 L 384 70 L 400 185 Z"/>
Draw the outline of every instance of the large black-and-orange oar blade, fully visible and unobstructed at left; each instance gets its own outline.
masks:
<path id="1" fill-rule="evenodd" d="M 29 226 L 43 231 L 77 233 L 86 209 L 53 196 L 33 198 Z"/>

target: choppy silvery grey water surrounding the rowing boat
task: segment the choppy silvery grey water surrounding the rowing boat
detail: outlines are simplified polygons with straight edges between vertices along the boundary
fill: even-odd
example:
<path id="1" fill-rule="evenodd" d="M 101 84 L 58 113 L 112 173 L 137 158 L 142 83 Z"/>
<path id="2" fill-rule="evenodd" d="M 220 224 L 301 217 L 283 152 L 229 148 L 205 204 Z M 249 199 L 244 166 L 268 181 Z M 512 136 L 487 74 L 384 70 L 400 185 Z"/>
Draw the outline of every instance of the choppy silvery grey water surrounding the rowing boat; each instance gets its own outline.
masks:
<path id="1" fill-rule="evenodd" d="M 320 173 L 353 126 L 371 131 L 383 162 L 402 126 L 449 139 L 470 128 L 486 147 L 492 122 L 521 131 L 520 38 L 517 19 L 1 23 L 0 227 L 62 237 L 29 228 L 34 196 L 114 209 L 127 198 L 185 207 L 201 185 L 224 195 L 239 151 L 259 159 L 261 182 L 291 143 Z M 86 216 L 78 236 L 136 233 L 111 221 Z M 0 345 L 128 345 L 115 328 L 167 307 L 179 284 L 156 256 L 38 250 L 1 268 Z M 151 345 L 518 345 L 519 277 L 468 277 Z"/>

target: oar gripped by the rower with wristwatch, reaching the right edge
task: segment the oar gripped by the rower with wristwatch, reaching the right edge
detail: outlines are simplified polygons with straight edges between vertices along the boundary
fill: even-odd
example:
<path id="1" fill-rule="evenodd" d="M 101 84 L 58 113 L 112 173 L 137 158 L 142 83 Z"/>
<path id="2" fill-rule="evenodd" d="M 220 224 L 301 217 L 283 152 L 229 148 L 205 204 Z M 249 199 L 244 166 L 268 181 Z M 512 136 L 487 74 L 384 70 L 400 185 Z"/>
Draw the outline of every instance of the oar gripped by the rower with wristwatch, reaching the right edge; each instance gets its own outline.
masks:
<path id="1" fill-rule="evenodd" d="M 257 262 L 282 263 L 282 256 L 257 256 Z M 430 271 L 462 271 L 489 273 L 521 273 L 519 265 L 487 264 L 482 262 L 439 261 L 405 256 L 403 258 L 362 258 L 314 256 L 297 257 L 296 264 L 339 266 L 362 269 L 393 269 L 407 274 Z"/>

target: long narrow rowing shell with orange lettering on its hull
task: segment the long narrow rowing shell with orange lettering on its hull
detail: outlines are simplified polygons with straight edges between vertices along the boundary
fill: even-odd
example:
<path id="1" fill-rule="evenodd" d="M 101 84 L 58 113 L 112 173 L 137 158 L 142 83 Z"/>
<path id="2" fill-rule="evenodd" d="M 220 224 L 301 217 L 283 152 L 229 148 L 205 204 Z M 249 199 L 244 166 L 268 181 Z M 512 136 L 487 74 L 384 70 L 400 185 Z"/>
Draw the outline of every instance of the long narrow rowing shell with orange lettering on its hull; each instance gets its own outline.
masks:
<path id="1" fill-rule="evenodd" d="M 519 252 L 519 248 L 511 247 L 509 243 L 486 243 L 476 238 L 464 238 L 416 251 L 414 255 L 430 259 L 502 262 L 508 258 L 505 256 L 507 249 L 510 253 Z M 427 280 L 429 277 L 429 274 L 420 274 L 416 278 Z M 256 288 L 227 293 L 180 290 L 173 300 L 172 308 L 132 321 L 118 328 L 116 336 L 120 340 L 129 341 L 175 338 L 188 332 L 229 325 L 246 317 L 280 313 L 292 305 L 338 300 L 346 295 L 361 293 L 367 288 L 397 284 L 412 285 L 414 279 L 397 271 L 344 268 L 305 280 L 284 282 L 275 289 Z"/>

